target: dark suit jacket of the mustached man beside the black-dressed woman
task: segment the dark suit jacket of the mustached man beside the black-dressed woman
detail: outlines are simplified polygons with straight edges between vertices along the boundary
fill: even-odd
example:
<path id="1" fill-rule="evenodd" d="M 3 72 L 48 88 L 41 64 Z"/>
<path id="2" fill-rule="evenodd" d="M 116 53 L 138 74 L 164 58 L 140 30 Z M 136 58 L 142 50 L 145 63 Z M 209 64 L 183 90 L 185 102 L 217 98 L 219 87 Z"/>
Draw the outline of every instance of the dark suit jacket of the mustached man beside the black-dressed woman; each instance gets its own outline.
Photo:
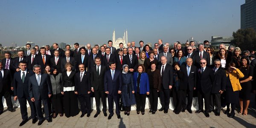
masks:
<path id="1" fill-rule="evenodd" d="M 76 73 L 74 91 L 78 92 L 78 95 L 88 95 L 88 92 L 91 91 L 90 73 L 84 71 L 82 81 L 80 81 L 80 76 L 81 72 Z"/>

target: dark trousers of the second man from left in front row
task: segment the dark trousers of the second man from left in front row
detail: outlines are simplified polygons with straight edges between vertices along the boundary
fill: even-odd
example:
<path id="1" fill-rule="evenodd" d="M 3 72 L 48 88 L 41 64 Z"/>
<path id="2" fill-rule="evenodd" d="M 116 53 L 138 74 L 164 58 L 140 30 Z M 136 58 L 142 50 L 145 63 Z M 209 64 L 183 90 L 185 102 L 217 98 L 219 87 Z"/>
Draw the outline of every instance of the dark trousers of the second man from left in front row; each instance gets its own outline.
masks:
<path id="1" fill-rule="evenodd" d="M 23 120 L 28 119 L 28 112 L 27 112 L 27 101 L 29 102 L 30 110 L 31 110 L 31 117 L 32 119 L 36 117 L 36 108 L 35 103 L 31 101 L 29 96 L 23 95 L 23 97 L 18 97 L 19 103 L 20 103 L 20 113 L 21 118 Z"/>

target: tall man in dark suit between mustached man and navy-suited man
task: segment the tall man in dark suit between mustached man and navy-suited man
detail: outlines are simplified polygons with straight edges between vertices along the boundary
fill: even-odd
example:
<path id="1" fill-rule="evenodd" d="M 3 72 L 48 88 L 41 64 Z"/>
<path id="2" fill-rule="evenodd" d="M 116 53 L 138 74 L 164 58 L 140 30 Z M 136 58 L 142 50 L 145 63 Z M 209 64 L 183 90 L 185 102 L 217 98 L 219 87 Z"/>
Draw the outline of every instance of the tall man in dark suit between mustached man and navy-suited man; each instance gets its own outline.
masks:
<path id="1" fill-rule="evenodd" d="M 94 92 L 95 101 L 96 101 L 96 114 L 94 118 L 96 118 L 99 113 L 100 106 L 100 98 L 102 99 L 102 111 L 104 116 L 108 116 L 107 114 L 107 105 L 106 105 L 106 95 L 104 90 L 104 76 L 106 72 L 106 67 L 101 65 L 101 60 L 99 57 L 95 58 L 95 66 L 91 69 L 91 90 Z"/>

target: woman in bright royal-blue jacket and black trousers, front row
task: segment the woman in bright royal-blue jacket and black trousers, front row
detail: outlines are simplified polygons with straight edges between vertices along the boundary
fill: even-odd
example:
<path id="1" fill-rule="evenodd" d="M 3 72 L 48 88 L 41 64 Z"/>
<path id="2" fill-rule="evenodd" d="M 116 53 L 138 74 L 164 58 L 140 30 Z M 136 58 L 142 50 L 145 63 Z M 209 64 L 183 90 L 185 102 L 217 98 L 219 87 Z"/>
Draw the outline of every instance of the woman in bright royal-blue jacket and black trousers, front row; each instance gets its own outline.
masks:
<path id="1" fill-rule="evenodd" d="M 145 114 L 145 102 L 146 95 L 149 95 L 149 80 L 148 74 L 144 73 L 145 67 L 142 64 L 139 64 L 137 72 L 134 72 L 134 91 L 136 98 L 137 114 Z"/>

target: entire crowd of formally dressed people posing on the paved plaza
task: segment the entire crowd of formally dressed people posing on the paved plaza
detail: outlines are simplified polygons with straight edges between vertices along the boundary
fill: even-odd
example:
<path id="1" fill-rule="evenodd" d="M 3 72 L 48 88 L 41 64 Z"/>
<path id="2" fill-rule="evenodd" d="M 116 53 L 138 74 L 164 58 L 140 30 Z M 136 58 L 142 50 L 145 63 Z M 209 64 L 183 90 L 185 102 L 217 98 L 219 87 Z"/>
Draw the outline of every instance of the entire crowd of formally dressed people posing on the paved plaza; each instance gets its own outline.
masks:
<path id="1" fill-rule="evenodd" d="M 219 116 L 221 107 L 225 106 L 225 114 L 234 117 L 238 102 L 239 113 L 247 114 L 256 73 L 254 53 L 249 55 L 245 51 L 241 57 L 239 47 L 230 46 L 226 50 L 225 45 L 220 44 L 215 54 L 214 49 L 205 47 L 209 46 L 209 41 L 198 44 L 198 47 L 193 41 L 186 43 L 186 47 L 175 42 L 174 48 L 169 43 L 163 44 L 161 39 L 154 48 L 148 44 L 144 46 L 143 41 L 140 41 L 140 47 L 135 47 L 134 41 L 128 43 L 127 48 L 120 43 L 116 49 L 112 44 L 108 41 L 108 46 L 95 45 L 93 48 L 87 44 L 86 49 L 75 43 L 74 51 L 70 45 L 64 51 L 56 43 L 52 50 L 49 45 L 39 49 L 26 44 L 27 50 L 19 50 L 17 58 L 11 58 L 11 53 L 6 52 L 6 58 L 0 62 L 0 80 L 6 83 L 0 84 L 0 92 L 9 111 L 15 111 L 12 90 L 14 100 L 19 100 L 23 119 L 20 126 L 28 121 L 27 101 L 32 123 L 39 120 L 38 125 L 41 125 L 45 119 L 52 122 L 57 115 L 78 115 L 79 105 L 80 117 L 89 117 L 91 96 L 96 101 L 94 118 L 101 112 L 100 104 L 104 116 L 108 116 L 106 100 L 108 119 L 114 114 L 113 102 L 117 118 L 121 118 L 120 101 L 125 115 L 130 115 L 131 105 L 136 105 L 137 114 L 144 115 L 146 97 L 149 97 L 150 113 L 156 113 L 158 97 L 161 103 L 159 111 L 168 113 L 170 96 L 173 97 L 175 114 L 185 110 L 192 113 L 195 96 L 199 105 L 195 113 L 204 112 L 206 117 L 212 111 Z M 3 104 L 0 105 L 1 114 Z"/>

